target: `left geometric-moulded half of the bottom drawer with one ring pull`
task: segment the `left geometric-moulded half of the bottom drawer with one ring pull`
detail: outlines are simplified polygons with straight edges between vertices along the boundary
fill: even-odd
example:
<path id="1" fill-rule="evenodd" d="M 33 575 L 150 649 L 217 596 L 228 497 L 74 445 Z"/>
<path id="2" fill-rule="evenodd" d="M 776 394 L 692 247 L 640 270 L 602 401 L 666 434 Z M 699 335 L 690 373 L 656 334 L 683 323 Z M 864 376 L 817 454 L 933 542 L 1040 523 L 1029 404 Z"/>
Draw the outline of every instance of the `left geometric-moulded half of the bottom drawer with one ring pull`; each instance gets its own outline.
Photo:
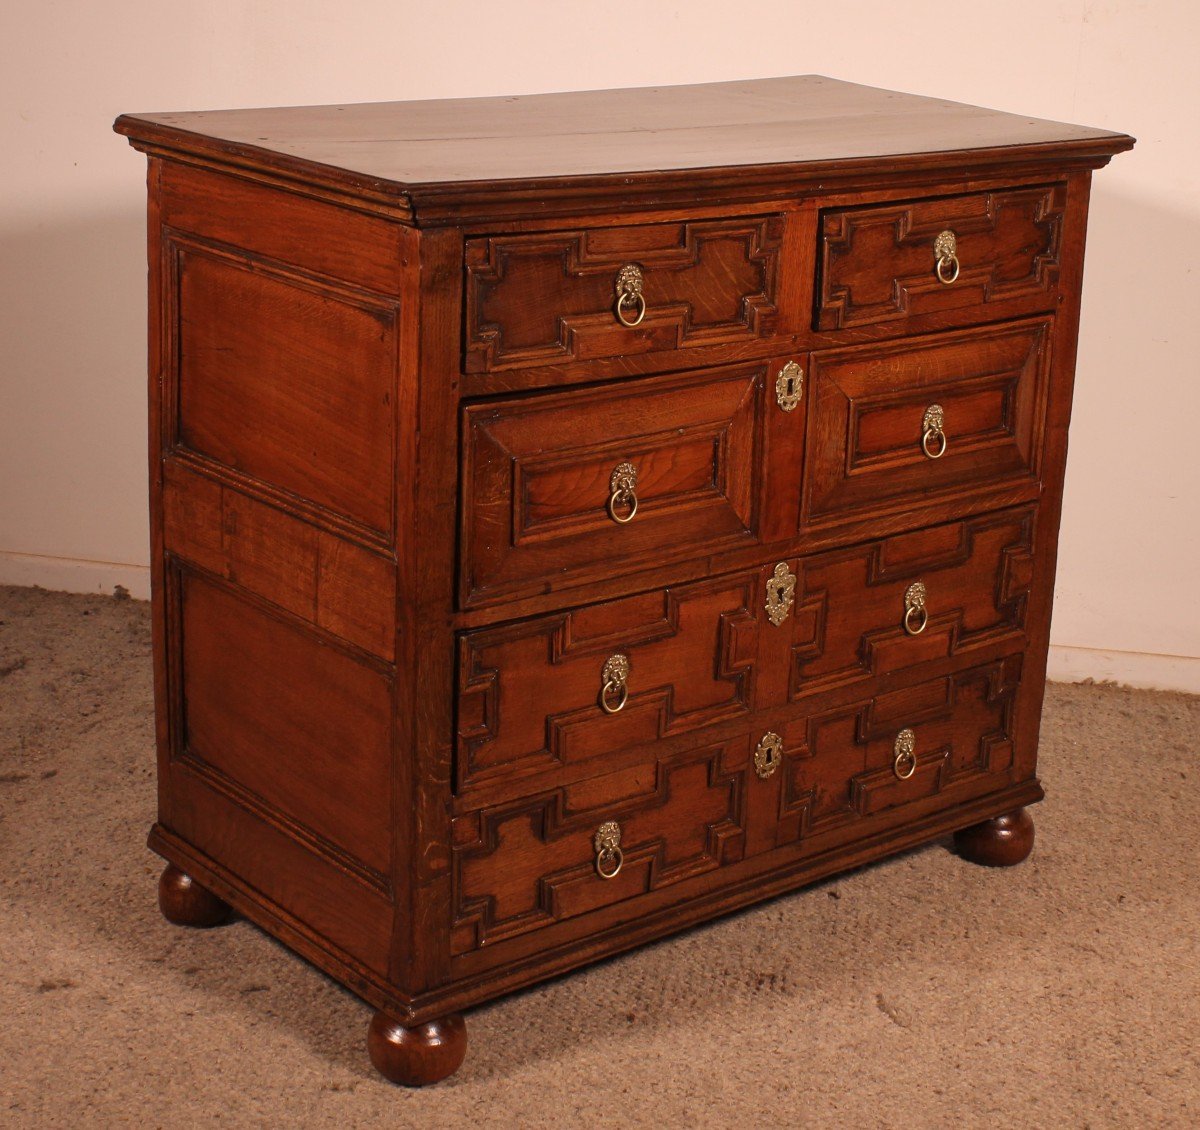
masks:
<path id="1" fill-rule="evenodd" d="M 748 757 L 740 739 L 457 817 L 452 952 L 742 859 Z"/>

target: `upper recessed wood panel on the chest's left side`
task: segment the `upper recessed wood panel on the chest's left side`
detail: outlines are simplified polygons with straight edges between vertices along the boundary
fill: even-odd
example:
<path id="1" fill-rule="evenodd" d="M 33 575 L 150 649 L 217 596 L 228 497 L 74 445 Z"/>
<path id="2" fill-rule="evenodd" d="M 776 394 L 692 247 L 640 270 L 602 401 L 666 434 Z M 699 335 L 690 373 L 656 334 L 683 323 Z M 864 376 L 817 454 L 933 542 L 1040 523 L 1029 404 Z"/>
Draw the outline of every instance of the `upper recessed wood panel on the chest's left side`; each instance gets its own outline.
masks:
<path id="1" fill-rule="evenodd" d="M 176 262 L 176 441 L 390 531 L 395 306 L 193 247 Z"/>

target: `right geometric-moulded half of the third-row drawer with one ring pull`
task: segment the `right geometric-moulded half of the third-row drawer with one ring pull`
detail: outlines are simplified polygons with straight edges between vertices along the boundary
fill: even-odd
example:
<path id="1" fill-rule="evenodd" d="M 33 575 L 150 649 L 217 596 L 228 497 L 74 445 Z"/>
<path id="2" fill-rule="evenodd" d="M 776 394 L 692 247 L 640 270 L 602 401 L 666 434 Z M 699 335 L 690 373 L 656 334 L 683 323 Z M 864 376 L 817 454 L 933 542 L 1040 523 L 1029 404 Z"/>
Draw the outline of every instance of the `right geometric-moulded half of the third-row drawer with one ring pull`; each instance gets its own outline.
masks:
<path id="1" fill-rule="evenodd" d="M 802 559 L 788 699 L 1024 642 L 1033 530 L 1027 506 Z"/>

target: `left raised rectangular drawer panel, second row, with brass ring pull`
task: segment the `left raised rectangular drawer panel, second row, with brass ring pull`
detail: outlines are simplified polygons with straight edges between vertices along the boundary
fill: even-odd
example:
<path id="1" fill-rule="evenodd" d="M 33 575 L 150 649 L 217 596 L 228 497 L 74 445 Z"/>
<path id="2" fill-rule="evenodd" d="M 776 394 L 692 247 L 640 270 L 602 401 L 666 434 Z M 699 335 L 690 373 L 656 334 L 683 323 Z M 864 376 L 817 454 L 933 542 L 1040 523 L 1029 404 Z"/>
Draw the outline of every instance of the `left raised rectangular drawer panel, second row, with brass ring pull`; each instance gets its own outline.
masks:
<path id="1" fill-rule="evenodd" d="M 760 542 L 767 369 L 464 409 L 462 603 Z"/>

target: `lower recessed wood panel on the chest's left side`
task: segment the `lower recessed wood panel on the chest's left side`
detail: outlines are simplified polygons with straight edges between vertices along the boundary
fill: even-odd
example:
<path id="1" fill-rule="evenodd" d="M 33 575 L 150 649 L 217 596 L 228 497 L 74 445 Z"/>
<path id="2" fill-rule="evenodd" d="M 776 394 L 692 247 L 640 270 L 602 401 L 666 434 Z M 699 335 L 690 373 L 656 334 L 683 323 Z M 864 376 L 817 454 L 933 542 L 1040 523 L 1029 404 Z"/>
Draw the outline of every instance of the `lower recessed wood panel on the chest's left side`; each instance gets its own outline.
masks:
<path id="1" fill-rule="evenodd" d="M 228 779 L 284 830 L 386 876 L 386 675 L 224 588 L 180 576 L 178 756 Z"/>

